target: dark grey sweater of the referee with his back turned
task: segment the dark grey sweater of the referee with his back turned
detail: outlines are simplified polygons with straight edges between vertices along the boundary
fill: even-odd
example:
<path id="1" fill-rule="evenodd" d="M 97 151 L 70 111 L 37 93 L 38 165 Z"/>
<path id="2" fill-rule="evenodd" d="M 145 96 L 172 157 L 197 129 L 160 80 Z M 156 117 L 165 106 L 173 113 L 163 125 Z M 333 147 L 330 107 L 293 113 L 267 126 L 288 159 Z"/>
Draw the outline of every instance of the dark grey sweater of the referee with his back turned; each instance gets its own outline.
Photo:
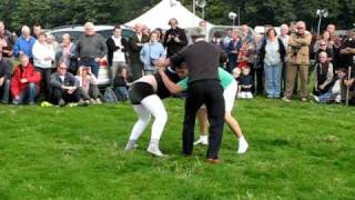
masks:
<path id="1" fill-rule="evenodd" d="M 220 80 L 217 67 L 222 56 L 221 48 L 205 41 L 199 41 L 173 56 L 171 62 L 173 66 L 179 66 L 183 61 L 186 63 L 189 83 L 206 79 Z"/>

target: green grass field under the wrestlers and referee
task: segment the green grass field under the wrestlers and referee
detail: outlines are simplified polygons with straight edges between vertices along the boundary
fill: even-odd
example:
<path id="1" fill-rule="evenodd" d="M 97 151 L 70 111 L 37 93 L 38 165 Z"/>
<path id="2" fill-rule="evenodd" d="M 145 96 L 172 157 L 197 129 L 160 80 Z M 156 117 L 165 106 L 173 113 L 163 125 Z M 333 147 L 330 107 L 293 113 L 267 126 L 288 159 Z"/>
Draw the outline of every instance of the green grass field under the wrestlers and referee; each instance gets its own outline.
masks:
<path id="1" fill-rule="evenodd" d="M 166 100 L 168 158 L 123 148 L 136 116 L 129 103 L 88 108 L 2 106 L 0 199 L 354 199 L 355 109 L 240 100 L 234 116 L 250 143 L 225 127 L 221 164 L 206 147 L 181 154 L 183 102 Z"/>

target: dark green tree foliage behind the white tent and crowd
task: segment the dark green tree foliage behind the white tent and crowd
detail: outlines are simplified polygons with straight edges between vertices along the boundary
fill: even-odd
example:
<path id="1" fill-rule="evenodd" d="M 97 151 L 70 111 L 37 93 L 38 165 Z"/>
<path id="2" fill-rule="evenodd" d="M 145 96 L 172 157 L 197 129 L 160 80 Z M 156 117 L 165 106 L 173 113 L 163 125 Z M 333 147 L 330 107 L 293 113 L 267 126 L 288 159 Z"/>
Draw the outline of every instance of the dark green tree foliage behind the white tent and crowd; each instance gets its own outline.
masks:
<path id="1" fill-rule="evenodd" d="M 39 23 L 45 28 L 63 24 L 124 23 L 151 9 L 160 0 L 1 0 L 0 19 L 10 29 L 21 24 Z M 181 0 L 192 10 L 192 0 Z M 334 22 L 341 29 L 355 23 L 355 0 L 207 0 L 205 19 L 215 24 L 231 24 L 227 13 L 240 10 L 241 23 L 280 26 L 284 22 L 304 20 L 308 28 L 315 27 L 317 9 L 327 8 L 324 23 Z M 201 16 L 201 9 L 196 9 Z M 164 13 L 162 13 L 164 14 Z"/>

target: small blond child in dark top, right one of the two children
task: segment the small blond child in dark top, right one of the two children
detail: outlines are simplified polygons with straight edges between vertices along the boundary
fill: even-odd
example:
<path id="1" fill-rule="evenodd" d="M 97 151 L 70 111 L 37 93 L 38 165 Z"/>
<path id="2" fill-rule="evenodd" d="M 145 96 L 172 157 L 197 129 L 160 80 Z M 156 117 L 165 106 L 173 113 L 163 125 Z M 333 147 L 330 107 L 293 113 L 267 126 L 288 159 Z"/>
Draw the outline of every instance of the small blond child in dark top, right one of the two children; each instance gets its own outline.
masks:
<path id="1" fill-rule="evenodd" d="M 250 74 L 250 68 L 242 69 L 242 76 L 239 86 L 239 98 L 241 99 L 253 99 L 252 87 L 253 78 Z"/>

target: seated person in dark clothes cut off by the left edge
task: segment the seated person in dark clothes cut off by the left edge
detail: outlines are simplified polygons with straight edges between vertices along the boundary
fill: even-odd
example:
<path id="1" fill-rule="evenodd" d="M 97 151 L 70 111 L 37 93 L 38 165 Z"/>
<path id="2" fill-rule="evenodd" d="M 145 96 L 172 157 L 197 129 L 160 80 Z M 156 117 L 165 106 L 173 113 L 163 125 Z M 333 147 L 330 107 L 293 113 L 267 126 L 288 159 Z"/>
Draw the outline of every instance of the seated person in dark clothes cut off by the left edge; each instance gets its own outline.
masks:
<path id="1" fill-rule="evenodd" d="M 0 102 L 9 103 L 11 67 L 2 58 L 2 49 L 0 46 Z"/>

